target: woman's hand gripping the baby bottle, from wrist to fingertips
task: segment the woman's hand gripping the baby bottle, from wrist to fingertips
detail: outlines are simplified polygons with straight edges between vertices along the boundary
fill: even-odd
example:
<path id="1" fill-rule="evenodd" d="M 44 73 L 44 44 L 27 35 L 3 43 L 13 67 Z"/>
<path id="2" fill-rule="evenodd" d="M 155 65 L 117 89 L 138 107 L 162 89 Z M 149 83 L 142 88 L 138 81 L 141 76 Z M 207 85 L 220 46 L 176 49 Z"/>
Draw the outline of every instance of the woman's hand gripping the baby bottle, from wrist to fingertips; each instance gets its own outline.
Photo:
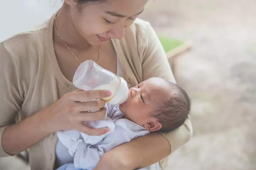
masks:
<path id="1" fill-rule="evenodd" d="M 102 135 L 108 128 L 93 129 L 84 124 L 84 121 L 98 120 L 106 114 L 105 101 L 94 100 L 111 96 L 110 91 L 89 90 L 75 91 L 65 94 L 58 101 L 46 108 L 48 113 L 47 127 L 53 132 L 60 130 L 78 130 L 87 135 Z M 99 110 L 97 112 L 88 112 Z"/>

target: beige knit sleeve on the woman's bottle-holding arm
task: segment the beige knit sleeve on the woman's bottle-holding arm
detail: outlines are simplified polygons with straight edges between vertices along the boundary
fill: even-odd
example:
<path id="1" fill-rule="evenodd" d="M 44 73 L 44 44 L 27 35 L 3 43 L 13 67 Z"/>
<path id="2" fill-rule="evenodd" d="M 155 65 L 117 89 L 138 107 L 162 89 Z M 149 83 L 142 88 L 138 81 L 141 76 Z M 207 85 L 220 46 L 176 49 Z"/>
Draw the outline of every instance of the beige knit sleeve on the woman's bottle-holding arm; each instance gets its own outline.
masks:
<path id="1" fill-rule="evenodd" d="M 15 123 L 22 104 L 14 63 L 4 43 L 0 42 L 0 157 L 9 156 L 2 147 L 2 133 L 8 125 Z"/>

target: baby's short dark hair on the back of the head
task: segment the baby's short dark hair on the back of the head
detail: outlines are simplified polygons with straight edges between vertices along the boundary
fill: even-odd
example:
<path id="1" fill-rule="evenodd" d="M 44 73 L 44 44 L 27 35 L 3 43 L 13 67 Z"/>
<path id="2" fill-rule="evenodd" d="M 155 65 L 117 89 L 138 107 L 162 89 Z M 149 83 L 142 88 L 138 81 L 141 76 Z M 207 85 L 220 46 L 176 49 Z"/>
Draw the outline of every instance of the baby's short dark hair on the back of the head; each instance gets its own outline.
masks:
<path id="1" fill-rule="evenodd" d="M 190 97 L 180 86 L 167 81 L 171 98 L 161 104 L 154 117 L 162 124 L 160 132 L 170 132 L 179 128 L 188 118 L 191 110 Z"/>

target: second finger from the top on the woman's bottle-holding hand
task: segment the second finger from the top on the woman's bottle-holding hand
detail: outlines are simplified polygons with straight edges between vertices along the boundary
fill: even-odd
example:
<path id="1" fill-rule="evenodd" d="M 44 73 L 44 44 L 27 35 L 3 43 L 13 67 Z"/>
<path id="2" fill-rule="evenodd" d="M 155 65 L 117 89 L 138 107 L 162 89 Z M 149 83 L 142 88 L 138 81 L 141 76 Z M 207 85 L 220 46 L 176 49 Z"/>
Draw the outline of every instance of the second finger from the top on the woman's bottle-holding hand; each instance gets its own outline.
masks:
<path id="1" fill-rule="evenodd" d="M 92 100 L 86 102 L 75 102 L 74 107 L 77 112 L 95 111 L 105 106 L 106 102 L 103 100 Z"/>

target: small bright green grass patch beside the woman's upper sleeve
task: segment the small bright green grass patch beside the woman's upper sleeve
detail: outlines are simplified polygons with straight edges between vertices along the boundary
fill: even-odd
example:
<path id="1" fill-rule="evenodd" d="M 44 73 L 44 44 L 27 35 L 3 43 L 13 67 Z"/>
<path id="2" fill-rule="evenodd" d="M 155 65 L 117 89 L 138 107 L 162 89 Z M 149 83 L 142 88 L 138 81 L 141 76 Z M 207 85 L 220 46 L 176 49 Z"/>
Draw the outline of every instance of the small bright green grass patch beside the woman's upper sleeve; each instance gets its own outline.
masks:
<path id="1" fill-rule="evenodd" d="M 172 49 L 175 49 L 176 47 L 180 46 L 184 42 L 177 39 L 171 39 L 164 36 L 159 36 L 159 40 L 164 47 L 165 52 L 168 52 Z"/>

